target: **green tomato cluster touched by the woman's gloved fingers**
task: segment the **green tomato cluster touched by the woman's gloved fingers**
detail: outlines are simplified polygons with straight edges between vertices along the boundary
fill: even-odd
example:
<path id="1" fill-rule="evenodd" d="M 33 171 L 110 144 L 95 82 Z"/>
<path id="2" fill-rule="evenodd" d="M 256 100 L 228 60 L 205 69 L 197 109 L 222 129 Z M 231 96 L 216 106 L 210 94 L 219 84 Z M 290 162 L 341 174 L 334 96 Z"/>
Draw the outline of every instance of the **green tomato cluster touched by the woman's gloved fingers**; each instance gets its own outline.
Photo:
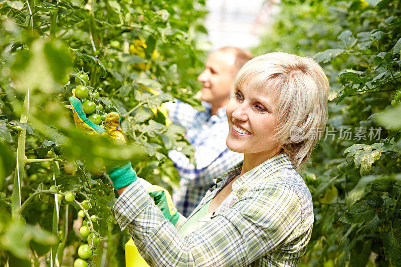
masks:
<path id="1" fill-rule="evenodd" d="M 82 101 L 82 109 L 88 115 L 88 119 L 96 125 L 101 124 L 106 120 L 106 113 L 103 111 L 103 106 L 99 101 L 99 92 L 89 90 L 86 86 L 89 81 L 89 76 L 85 73 L 78 74 L 75 77 L 75 82 L 79 85 L 75 88 L 75 96 Z"/>

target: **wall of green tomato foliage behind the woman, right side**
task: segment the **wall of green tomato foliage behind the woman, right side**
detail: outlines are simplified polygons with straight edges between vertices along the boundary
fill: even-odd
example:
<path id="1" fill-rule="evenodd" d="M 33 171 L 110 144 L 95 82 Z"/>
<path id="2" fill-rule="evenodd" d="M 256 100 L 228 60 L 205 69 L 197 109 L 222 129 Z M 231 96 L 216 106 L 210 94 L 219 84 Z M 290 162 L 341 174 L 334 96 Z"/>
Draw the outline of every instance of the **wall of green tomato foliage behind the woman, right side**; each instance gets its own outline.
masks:
<path id="1" fill-rule="evenodd" d="M 400 3 L 278 6 L 254 52 L 313 57 L 331 85 L 326 140 L 303 174 L 315 223 L 301 265 L 401 266 Z M 341 128 L 350 129 L 349 140 Z"/>

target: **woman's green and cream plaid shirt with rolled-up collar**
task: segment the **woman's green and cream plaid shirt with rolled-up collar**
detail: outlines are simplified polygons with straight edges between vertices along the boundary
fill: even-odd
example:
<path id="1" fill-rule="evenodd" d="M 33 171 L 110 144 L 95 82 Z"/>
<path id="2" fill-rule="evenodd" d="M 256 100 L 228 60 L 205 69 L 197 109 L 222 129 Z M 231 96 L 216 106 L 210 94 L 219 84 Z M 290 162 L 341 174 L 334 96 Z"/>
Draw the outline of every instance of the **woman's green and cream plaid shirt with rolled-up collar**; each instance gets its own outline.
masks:
<path id="1" fill-rule="evenodd" d="M 192 214 L 241 167 L 242 162 L 221 174 Z M 124 190 L 114 211 L 151 266 L 297 266 L 310 239 L 313 208 L 309 189 L 287 154 L 268 159 L 232 186 L 225 207 L 186 237 L 178 233 L 185 218 L 181 215 L 174 227 L 138 181 Z"/>

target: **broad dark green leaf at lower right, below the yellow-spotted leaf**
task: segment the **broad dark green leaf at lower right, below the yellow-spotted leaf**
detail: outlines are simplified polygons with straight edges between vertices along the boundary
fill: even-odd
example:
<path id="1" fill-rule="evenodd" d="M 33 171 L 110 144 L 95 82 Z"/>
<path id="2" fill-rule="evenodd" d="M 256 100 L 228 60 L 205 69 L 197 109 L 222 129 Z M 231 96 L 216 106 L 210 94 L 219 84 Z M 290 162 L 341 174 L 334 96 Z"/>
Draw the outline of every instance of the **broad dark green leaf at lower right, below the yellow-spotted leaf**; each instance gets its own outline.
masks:
<path id="1" fill-rule="evenodd" d="M 374 218 L 376 208 L 371 206 L 366 200 L 355 203 L 350 206 L 344 214 L 341 215 L 340 221 L 345 223 L 368 223 Z"/>

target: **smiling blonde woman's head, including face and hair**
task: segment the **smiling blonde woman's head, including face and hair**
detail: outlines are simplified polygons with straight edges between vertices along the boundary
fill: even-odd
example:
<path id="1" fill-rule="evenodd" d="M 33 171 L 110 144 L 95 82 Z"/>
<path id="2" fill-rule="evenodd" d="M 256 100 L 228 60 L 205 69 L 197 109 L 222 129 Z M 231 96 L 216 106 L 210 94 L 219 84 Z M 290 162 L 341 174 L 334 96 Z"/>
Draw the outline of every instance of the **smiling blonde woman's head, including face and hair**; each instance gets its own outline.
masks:
<path id="1" fill-rule="evenodd" d="M 298 169 L 326 125 L 328 92 L 322 68 L 310 58 L 269 53 L 253 59 L 238 73 L 227 106 L 228 148 L 255 166 L 283 150 Z M 290 138 L 293 127 L 303 136 Z"/>

